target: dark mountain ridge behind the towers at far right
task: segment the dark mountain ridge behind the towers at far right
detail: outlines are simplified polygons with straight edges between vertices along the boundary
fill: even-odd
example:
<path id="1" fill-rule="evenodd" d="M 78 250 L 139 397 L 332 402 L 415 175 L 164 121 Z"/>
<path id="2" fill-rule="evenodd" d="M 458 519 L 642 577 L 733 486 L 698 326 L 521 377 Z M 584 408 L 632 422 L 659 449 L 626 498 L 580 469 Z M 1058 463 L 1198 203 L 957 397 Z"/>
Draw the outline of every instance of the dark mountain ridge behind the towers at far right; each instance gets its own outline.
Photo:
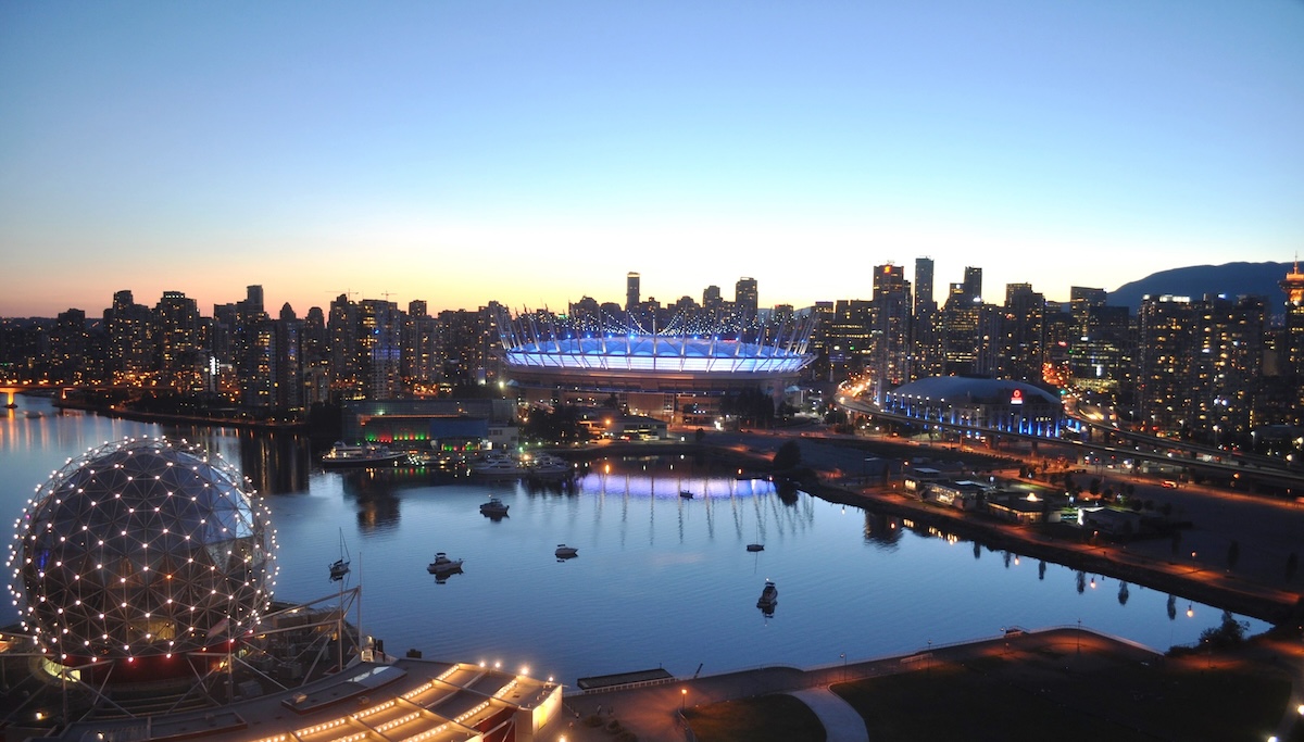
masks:
<path id="1" fill-rule="evenodd" d="M 1269 312 L 1279 313 L 1286 295 L 1278 283 L 1290 273 L 1291 263 L 1224 263 L 1175 267 L 1153 273 L 1142 279 L 1124 283 L 1110 292 L 1114 306 L 1129 306 L 1136 312 L 1146 295 L 1189 296 L 1200 299 L 1206 293 L 1224 293 L 1230 297 L 1257 295 L 1267 299 Z"/>

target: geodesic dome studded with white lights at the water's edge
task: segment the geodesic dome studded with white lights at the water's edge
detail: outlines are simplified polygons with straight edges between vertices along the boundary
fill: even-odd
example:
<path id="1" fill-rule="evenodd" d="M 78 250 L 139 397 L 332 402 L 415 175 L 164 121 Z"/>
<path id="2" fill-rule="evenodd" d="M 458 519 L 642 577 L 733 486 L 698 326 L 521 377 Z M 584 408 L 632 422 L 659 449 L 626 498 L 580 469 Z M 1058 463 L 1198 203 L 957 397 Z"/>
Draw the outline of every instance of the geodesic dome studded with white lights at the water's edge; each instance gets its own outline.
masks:
<path id="1" fill-rule="evenodd" d="M 9 591 L 60 659 L 210 647 L 271 601 L 267 511 L 220 456 L 184 441 L 106 443 L 69 460 L 18 519 Z"/>

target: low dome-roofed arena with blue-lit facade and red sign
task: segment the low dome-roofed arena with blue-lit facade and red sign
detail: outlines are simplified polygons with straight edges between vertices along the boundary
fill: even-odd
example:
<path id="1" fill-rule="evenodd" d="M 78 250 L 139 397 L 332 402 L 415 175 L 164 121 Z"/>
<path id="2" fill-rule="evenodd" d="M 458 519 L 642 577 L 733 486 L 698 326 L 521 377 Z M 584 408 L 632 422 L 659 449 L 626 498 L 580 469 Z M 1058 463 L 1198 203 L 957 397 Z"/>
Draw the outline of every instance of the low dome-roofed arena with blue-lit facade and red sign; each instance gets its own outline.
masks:
<path id="1" fill-rule="evenodd" d="M 996 378 L 922 378 L 884 394 L 880 408 L 921 423 L 1045 438 L 1058 438 L 1067 425 L 1076 426 L 1056 395 Z"/>

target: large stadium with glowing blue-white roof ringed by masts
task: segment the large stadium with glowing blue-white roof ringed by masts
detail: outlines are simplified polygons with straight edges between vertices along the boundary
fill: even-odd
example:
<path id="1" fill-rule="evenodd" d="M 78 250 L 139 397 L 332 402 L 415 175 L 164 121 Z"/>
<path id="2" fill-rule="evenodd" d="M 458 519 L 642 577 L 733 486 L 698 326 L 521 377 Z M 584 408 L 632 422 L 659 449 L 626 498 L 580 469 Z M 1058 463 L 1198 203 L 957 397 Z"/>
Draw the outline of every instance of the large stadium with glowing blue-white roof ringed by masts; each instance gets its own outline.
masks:
<path id="1" fill-rule="evenodd" d="M 725 394 L 758 389 L 776 399 L 811 363 L 814 316 L 775 322 L 675 317 L 664 329 L 632 317 L 499 318 L 503 366 L 527 402 L 602 403 L 617 395 L 632 412 L 704 424 Z"/>

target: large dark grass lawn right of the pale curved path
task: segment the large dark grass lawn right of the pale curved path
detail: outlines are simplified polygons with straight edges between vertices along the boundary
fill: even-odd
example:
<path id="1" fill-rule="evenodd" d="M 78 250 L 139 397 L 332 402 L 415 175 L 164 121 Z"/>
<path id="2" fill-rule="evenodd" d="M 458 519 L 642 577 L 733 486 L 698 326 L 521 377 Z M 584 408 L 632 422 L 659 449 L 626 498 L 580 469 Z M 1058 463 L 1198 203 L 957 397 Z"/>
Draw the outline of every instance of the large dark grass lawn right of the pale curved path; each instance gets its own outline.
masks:
<path id="1" fill-rule="evenodd" d="M 833 686 L 870 739 L 1266 739 L 1290 681 L 1248 666 L 1015 652 Z"/>

